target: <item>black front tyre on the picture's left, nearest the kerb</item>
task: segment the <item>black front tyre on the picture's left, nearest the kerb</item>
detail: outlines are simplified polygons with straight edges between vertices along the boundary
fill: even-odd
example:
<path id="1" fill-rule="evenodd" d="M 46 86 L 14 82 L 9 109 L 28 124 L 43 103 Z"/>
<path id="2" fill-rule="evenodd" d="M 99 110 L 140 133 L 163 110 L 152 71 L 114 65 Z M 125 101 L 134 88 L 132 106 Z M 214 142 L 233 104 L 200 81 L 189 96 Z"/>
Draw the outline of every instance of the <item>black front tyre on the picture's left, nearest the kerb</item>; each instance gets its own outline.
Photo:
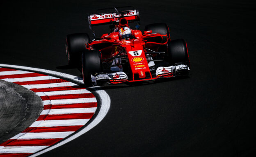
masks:
<path id="1" fill-rule="evenodd" d="M 101 53 L 98 50 L 85 51 L 82 53 L 82 76 L 86 85 L 94 85 L 91 75 L 102 72 Z"/>

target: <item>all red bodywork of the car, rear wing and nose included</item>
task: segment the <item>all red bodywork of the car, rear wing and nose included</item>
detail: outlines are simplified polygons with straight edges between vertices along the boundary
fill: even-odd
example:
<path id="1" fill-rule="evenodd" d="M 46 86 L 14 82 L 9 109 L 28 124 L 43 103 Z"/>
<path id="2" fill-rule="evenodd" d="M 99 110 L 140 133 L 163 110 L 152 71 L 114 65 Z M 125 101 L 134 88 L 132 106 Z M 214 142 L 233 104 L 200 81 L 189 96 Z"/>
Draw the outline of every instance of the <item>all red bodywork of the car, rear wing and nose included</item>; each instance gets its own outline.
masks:
<path id="1" fill-rule="evenodd" d="M 101 52 L 102 63 L 107 63 L 108 66 L 110 65 L 109 67 L 117 65 L 119 68 L 122 68 L 124 63 L 129 65 L 129 70 L 123 71 L 126 73 L 128 79 L 122 80 L 120 78 L 117 80 L 119 75 L 113 72 L 113 78 L 110 79 L 112 84 L 155 80 L 158 77 L 169 77 L 172 75 L 169 72 L 167 75 L 161 74 L 161 76 L 156 76 L 155 71 L 149 67 L 149 62 L 153 60 L 152 57 L 157 55 L 156 52 L 159 52 L 160 46 L 166 49 L 167 42 L 170 40 L 168 38 L 170 36 L 169 34 L 161 35 L 152 33 L 150 30 L 143 33 L 139 30 L 131 30 L 133 38 L 127 40 L 119 38 L 118 30 L 121 27 L 129 27 L 128 22 L 139 20 L 139 12 L 137 10 L 125 11 L 122 14 L 119 12 L 93 14 L 89 15 L 88 19 L 91 29 L 94 25 L 115 23 L 112 33 L 103 34 L 100 40 L 94 40 L 86 45 L 88 50 L 99 50 Z M 152 51 L 155 53 L 152 53 Z M 116 62 L 114 61 L 115 58 L 119 58 L 120 60 Z M 112 64 L 113 62 L 115 62 L 114 65 Z"/>

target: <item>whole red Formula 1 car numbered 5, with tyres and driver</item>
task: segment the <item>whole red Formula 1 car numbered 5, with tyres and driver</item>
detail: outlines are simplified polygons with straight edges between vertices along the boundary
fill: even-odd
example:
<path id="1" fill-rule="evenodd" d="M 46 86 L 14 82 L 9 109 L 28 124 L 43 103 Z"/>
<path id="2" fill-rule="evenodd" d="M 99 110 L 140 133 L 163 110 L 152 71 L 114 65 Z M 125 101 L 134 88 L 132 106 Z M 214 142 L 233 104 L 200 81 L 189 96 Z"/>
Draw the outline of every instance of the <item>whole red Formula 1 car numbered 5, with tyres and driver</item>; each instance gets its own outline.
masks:
<path id="1" fill-rule="evenodd" d="M 103 86 L 187 75 L 190 60 L 184 40 L 170 40 L 165 23 L 146 25 L 139 31 L 139 11 L 114 7 L 109 13 L 88 16 L 94 39 L 87 33 L 66 36 L 66 55 L 70 66 L 82 62 L 85 84 Z M 129 24 L 138 22 L 135 29 Z M 96 25 L 110 25 L 110 33 L 96 38 Z M 81 57 L 82 56 L 82 57 Z M 82 58 L 82 60 L 81 60 Z"/>

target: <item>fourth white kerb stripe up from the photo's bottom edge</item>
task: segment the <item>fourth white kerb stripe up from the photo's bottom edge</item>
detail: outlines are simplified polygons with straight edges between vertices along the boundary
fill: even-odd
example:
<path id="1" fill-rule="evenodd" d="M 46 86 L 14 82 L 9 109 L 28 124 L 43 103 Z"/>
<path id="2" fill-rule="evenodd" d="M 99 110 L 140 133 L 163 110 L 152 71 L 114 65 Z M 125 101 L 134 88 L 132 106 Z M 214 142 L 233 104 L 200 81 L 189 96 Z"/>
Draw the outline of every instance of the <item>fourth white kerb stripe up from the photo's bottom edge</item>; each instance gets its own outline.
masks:
<path id="1" fill-rule="evenodd" d="M 71 113 L 95 113 L 96 107 L 91 108 L 62 108 L 43 110 L 40 115 L 57 115 L 57 114 L 71 114 Z"/>

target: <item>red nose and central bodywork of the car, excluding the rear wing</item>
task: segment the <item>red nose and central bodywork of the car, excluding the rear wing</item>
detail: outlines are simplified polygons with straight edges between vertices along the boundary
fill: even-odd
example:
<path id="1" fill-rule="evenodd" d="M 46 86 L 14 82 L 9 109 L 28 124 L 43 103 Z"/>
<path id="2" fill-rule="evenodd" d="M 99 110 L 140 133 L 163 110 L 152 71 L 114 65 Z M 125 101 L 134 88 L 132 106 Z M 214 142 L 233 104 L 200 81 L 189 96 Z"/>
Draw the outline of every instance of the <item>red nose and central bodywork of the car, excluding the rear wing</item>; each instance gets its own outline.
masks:
<path id="1" fill-rule="evenodd" d="M 152 31 L 144 32 L 144 34 L 142 35 L 142 32 L 139 30 L 132 30 L 132 34 L 135 39 L 129 40 L 119 40 L 118 32 L 103 34 L 101 40 L 91 42 L 87 46 L 87 49 L 93 50 L 94 47 L 100 47 L 101 44 L 108 43 L 110 45 L 107 45 L 99 50 L 102 54 L 102 61 L 107 58 L 115 57 L 119 52 L 124 50 L 123 53 L 119 55 L 127 55 L 128 57 L 130 69 L 133 73 L 133 78 L 129 78 L 129 82 L 156 79 L 157 77 L 152 77 L 151 75 L 148 61 L 145 55 L 146 50 L 144 49 L 144 47 L 146 46 L 147 48 L 157 51 L 158 46 L 162 44 L 167 44 L 167 41 L 164 43 L 157 43 L 147 42 L 146 39 L 154 37 L 162 38 L 162 36 L 167 37 L 167 35 L 161 35 L 157 33 L 153 34 Z M 136 74 L 139 76 L 139 80 L 135 80 L 134 76 Z M 148 77 L 146 78 L 146 76 Z"/>

